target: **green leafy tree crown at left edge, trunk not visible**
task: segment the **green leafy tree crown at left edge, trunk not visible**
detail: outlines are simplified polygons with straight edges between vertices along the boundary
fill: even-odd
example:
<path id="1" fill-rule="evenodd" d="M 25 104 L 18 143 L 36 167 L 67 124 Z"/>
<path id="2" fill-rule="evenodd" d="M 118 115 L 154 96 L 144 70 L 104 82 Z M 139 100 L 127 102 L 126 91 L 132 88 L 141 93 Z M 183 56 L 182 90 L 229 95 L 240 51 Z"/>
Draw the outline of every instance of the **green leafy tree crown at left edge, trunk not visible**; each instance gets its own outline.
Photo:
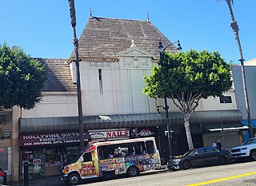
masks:
<path id="1" fill-rule="evenodd" d="M 0 46 L 0 108 L 33 109 L 42 100 L 46 69 L 19 47 Z"/>

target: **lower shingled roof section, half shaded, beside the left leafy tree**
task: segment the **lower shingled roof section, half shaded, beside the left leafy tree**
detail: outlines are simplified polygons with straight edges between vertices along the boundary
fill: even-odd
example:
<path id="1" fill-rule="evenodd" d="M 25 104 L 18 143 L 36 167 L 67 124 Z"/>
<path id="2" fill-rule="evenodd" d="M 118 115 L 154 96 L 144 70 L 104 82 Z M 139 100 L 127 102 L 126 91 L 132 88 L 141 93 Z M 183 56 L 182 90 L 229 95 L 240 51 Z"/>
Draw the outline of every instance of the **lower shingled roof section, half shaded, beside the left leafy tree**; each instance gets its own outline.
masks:
<path id="1" fill-rule="evenodd" d="M 46 83 L 42 92 L 76 91 L 67 59 L 35 58 L 46 66 Z"/>

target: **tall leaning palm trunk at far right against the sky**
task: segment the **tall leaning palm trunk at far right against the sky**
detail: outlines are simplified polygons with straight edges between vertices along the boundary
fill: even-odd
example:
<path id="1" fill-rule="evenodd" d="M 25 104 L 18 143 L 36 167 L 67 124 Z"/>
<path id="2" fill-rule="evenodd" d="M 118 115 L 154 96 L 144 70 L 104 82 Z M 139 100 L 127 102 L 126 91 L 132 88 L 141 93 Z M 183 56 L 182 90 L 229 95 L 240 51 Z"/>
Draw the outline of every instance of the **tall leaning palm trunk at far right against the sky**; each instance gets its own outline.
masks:
<path id="1" fill-rule="evenodd" d="M 244 90 L 244 94 L 245 94 L 245 101 L 246 101 L 246 113 L 247 113 L 247 120 L 248 120 L 248 127 L 249 127 L 249 137 L 254 137 L 253 129 L 252 129 L 252 126 L 251 126 L 250 105 L 249 105 L 247 85 L 246 85 L 246 73 L 245 73 L 245 67 L 244 67 L 244 61 L 245 60 L 242 57 L 242 46 L 241 46 L 240 38 L 239 38 L 239 35 L 238 35 L 238 30 L 239 30 L 238 29 L 238 23 L 234 20 L 234 13 L 233 13 L 233 9 L 232 9 L 232 5 L 234 5 L 234 0 L 225 0 L 225 1 L 227 3 L 227 6 L 229 6 L 230 16 L 231 16 L 231 19 L 232 19 L 231 28 L 234 32 L 235 39 L 238 42 L 238 49 L 239 49 L 239 53 L 240 53 L 239 61 L 241 62 L 242 85 L 243 85 L 243 90 Z M 232 5 L 231 5 L 231 3 L 232 3 Z"/>

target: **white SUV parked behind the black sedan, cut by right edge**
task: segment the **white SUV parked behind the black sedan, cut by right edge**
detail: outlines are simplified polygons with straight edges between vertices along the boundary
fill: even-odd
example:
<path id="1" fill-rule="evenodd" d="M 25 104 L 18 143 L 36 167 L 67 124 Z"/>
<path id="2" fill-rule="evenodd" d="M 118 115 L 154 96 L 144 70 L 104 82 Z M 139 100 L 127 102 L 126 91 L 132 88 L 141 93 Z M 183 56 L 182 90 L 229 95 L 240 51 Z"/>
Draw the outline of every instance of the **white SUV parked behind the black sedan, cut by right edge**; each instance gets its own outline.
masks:
<path id="1" fill-rule="evenodd" d="M 256 137 L 246 140 L 242 146 L 231 148 L 231 155 L 235 159 L 250 157 L 256 160 Z"/>

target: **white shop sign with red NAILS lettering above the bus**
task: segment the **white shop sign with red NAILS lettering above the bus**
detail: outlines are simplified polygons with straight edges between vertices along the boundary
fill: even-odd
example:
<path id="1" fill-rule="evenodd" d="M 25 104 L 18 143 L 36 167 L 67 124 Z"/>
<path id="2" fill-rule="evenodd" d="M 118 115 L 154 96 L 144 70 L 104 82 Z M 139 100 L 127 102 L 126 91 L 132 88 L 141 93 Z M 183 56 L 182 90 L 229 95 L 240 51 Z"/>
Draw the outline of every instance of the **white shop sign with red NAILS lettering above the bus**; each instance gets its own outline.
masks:
<path id="1" fill-rule="evenodd" d="M 104 131 L 104 132 L 90 132 L 91 139 L 100 138 L 117 138 L 117 137 L 129 137 L 129 130 L 118 130 L 118 131 Z"/>

